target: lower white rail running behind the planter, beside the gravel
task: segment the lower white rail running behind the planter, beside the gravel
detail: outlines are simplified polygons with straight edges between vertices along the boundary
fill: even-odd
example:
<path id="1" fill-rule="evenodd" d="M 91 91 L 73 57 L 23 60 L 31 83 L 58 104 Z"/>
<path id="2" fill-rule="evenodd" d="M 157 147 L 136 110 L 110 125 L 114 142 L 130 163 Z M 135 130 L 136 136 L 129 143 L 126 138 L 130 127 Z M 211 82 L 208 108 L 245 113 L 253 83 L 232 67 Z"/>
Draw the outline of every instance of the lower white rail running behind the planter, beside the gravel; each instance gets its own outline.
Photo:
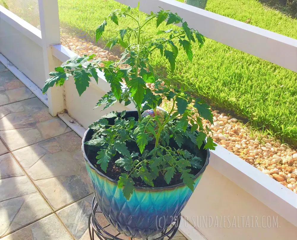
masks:
<path id="1" fill-rule="evenodd" d="M 52 51 L 53 55 L 63 62 L 76 56 L 61 44 L 52 46 Z M 92 80 L 92 83 L 97 85 L 95 80 Z M 110 91 L 109 83 L 100 71 L 97 86 L 106 92 Z M 128 107 L 134 110 L 134 106 L 130 105 Z M 216 150 L 211 150 L 209 162 L 210 166 L 218 172 L 297 227 L 296 193 L 220 145 L 216 147 Z"/>

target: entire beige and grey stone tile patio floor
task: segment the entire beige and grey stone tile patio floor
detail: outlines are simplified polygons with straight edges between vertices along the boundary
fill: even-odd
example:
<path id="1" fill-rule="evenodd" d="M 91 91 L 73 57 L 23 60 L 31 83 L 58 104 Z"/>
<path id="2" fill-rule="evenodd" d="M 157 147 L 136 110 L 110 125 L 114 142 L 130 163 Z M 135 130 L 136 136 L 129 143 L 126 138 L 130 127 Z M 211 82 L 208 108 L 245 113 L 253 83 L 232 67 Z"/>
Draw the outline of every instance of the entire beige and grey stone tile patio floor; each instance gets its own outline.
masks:
<path id="1" fill-rule="evenodd" d="M 1 240 L 89 239 L 93 194 L 80 148 L 81 138 L 0 63 Z"/>

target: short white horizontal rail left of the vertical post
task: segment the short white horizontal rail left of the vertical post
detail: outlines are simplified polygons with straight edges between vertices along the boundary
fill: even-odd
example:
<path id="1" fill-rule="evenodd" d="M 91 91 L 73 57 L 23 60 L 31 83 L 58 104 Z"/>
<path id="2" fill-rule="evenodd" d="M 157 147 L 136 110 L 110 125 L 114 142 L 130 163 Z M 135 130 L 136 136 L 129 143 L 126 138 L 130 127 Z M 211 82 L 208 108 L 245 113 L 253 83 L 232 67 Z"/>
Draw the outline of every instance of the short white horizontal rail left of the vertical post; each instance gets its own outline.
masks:
<path id="1" fill-rule="evenodd" d="M 33 42 L 42 46 L 41 31 L 0 5 L 0 23 L 5 21 Z"/>

